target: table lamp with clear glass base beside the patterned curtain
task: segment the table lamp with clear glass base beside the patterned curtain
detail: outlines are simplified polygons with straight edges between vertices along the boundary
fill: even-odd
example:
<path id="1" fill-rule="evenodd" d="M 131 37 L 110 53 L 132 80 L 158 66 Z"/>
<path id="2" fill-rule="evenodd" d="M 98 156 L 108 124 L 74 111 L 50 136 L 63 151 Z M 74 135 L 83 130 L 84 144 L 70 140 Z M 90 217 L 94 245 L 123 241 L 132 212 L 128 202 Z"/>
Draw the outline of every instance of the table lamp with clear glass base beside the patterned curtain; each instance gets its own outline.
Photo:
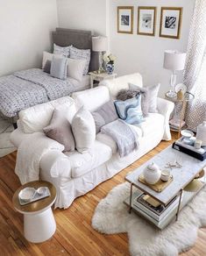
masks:
<path id="1" fill-rule="evenodd" d="M 170 78 L 171 89 L 167 92 L 168 97 L 175 97 L 176 92 L 174 86 L 176 84 L 176 71 L 183 70 L 185 67 L 186 53 L 181 53 L 176 50 L 167 50 L 164 55 L 164 68 L 172 71 Z"/>

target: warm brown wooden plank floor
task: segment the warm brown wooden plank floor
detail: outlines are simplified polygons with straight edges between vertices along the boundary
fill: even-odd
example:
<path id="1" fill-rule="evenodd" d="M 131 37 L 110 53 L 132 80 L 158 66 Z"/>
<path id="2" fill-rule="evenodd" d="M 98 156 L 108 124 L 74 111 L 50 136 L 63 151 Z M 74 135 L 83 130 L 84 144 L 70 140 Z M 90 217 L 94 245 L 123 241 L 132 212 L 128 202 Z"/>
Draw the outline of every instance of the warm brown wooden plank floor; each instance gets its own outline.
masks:
<path id="1" fill-rule="evenodd" d="M 32 244 L 23 235 L 23 217 L 13 210 L 11 198 L 20 186 L 14 174 L 16 153 L 0 159 L 0 255 L 129 255 L 126 234 L 103 235 L 90 225 L 96 205 L 111 188 L 124 182 L 124 176 L 139 167 L 171 142 L 161 142 L 153 151 L 104 181 L 67 210 L 54 210 L 57 231 L 42 244 Z M 182 256 L 206 255 L 206 229 L 201 229 L 195 246 Z M 155 256 L 155 255 L 154 255 Z"/>

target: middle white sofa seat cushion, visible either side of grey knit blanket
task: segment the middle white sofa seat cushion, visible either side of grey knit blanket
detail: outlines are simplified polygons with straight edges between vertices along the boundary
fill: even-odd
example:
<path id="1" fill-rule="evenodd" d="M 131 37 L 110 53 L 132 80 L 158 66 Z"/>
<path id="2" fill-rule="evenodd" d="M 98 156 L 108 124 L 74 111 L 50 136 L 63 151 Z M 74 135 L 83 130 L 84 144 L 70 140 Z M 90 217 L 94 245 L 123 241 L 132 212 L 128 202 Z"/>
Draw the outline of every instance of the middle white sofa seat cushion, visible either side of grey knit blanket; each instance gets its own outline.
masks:
<path id="1" fill-rule="evenodd" d="M 128 125 L 130 125 L 135 130 L 135 132 L 137 132 L 138 138 L 142 137 L 143 132 L 138 126 L 133 124 Z M 103 144 L 107 146 L 110 146 L 110 149 L 113 154 L 117 153 L 117 143 L 110 136 L 103 134 L 102 132 L 99 132 L 98 134 L 96 134 L 96 140 L 101 141 Z"/>

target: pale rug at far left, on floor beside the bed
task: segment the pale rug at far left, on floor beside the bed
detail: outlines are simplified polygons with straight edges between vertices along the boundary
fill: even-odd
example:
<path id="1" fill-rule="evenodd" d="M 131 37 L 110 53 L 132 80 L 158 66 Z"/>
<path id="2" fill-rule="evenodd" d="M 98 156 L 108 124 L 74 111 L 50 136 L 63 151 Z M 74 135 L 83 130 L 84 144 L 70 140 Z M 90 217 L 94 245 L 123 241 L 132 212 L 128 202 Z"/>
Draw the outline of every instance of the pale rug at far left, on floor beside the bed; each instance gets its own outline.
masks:
<path id="1" fill-rule="evenodd" d="M 17 150 L 10 141 L 10 135 L 13 130 L 11 120 L 0 116 L 0 158 Z"/>

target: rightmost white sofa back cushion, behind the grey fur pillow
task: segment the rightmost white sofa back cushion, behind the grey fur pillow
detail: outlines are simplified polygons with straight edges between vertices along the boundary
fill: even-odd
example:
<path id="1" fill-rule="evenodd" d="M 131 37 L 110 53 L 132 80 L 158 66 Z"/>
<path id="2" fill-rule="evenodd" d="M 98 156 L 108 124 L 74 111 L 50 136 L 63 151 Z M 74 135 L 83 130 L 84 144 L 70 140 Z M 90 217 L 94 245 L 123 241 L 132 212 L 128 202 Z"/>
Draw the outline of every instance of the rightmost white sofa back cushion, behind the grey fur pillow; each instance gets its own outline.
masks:
<path id="1" fill-rule="evenodd" d="M 110 92 L 110 98 L 114 100 L 116 99 L 119 90 L 129 89 L 129 83 L 137 84 L 139 87 L 142 87 L 142 76 L 139 73 L 123 75 L 115 79 L 103 80 L 99 85 L 107 87 Z"/>

